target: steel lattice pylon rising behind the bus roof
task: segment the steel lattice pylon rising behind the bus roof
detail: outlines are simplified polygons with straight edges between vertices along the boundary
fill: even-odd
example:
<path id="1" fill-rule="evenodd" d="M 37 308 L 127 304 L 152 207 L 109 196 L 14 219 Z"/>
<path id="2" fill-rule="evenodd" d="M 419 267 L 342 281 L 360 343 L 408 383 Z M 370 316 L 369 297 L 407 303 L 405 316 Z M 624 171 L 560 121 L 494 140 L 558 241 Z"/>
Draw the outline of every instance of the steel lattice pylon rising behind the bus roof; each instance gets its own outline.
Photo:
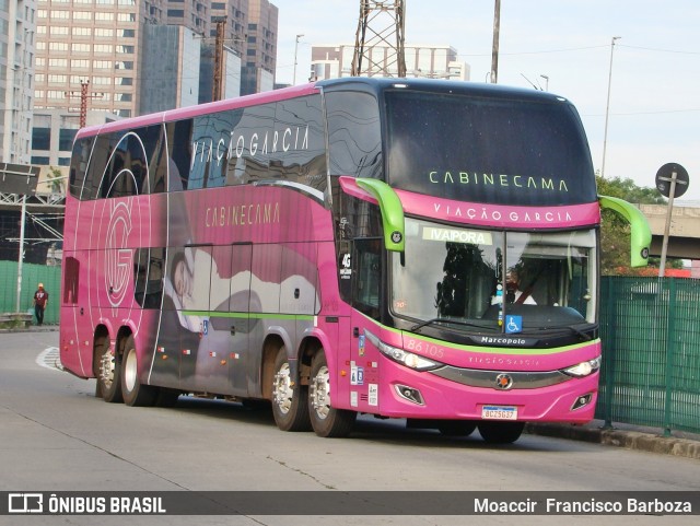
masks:
<path id="1" fill-rule="evenodd" d="M 360 0 L 352 77 L 406 77 L 405 3 L 404 0 Z M 382 58 L 377 59 L 375 48 L 382 51 Z"/>

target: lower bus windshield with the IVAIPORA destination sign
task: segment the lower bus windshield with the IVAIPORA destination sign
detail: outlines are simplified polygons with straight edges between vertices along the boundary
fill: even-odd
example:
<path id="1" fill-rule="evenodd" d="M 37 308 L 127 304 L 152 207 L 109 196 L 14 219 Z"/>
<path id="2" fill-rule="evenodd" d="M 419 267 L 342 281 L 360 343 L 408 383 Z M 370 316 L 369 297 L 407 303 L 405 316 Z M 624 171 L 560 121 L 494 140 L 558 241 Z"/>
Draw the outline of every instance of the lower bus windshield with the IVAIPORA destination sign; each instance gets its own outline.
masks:
<path id="1" fill-rule="evenodd" d="M 454 329 L 523 331 L 595 322 L 595 231 L 525 233 L 406 219 L 406 253 L 393 254 L 392 309 Z M 429 255 L 427 257 L 427 255 Z"/>

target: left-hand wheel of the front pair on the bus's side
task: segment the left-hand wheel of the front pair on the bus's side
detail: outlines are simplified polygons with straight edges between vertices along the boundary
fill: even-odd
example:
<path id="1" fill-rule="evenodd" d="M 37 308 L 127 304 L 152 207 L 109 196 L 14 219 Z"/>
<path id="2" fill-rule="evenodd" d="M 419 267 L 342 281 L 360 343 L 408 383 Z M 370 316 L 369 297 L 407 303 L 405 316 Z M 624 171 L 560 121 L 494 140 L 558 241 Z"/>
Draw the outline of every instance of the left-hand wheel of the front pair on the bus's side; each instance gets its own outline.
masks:
<path id="1" fill-rule="evenodd" d="M 275 359 L 272 414 L 275 423 L 282 431 L 308 431 L 311 429 L 306 388 L 292 378 L 284 346 L 279 349 Z"/>

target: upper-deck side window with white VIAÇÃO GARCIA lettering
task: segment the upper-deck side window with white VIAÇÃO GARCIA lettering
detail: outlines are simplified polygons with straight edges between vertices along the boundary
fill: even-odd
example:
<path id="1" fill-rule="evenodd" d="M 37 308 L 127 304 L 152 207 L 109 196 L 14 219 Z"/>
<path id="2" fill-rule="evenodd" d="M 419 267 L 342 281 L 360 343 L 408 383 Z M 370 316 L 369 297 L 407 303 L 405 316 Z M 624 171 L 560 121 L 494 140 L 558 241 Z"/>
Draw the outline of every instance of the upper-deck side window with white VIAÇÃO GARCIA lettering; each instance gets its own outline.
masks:
<path id="1" fill-rule="evenodd" d="M 319 96 L 170 122 L 171 191 L 289 180 L 323 190 L 326 143 Z"/>

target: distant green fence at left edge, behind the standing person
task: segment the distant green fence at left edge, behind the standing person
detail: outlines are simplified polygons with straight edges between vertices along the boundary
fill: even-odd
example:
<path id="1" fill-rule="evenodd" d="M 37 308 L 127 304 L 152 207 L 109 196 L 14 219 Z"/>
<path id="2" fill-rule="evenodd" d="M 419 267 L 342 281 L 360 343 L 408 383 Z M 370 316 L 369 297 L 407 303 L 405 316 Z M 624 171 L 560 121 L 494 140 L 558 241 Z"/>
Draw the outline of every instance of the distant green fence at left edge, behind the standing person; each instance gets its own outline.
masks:
<path id="1" fill-rule="evenodd" d="M 22 265 L 22 292 L 19 312 L 32 311 L 32 299 L 36 285 L 44 283 L 48 292 L 48 306 L 44 312 L 45 324 L 58 324 L 61 268 L 45 265 Z M 18 312 L 18 262 L 0 261 L 0 314 Z M 36 318 L 34 318 L 36 322 Z"/>

